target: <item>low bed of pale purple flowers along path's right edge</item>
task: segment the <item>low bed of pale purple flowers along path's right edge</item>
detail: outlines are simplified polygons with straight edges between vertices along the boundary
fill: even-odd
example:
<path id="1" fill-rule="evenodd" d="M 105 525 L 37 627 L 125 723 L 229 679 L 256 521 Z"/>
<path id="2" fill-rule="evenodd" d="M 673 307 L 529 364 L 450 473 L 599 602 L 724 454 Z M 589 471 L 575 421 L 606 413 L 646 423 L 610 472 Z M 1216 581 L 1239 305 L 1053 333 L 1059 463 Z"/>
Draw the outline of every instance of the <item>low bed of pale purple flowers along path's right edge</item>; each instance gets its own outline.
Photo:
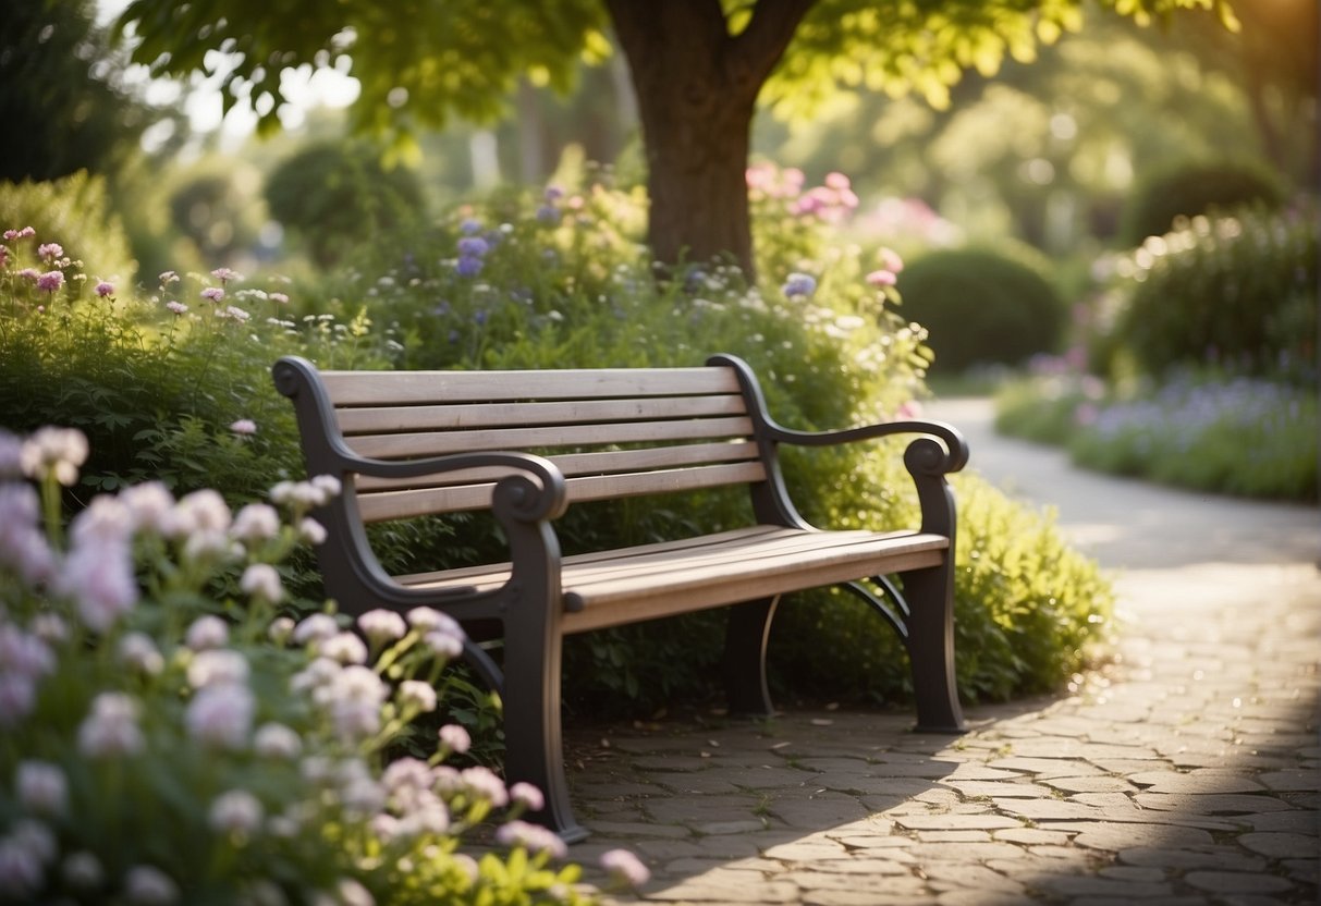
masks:
<path id="1" fill-rule="evenodd" d="M 1007 384 L 996 429 L 1066 446 L 1089 469 L 1243 497 L 1317 498 L 1313 390 L 1222 372 L 1106 391 L 1058 372 Z"/>

